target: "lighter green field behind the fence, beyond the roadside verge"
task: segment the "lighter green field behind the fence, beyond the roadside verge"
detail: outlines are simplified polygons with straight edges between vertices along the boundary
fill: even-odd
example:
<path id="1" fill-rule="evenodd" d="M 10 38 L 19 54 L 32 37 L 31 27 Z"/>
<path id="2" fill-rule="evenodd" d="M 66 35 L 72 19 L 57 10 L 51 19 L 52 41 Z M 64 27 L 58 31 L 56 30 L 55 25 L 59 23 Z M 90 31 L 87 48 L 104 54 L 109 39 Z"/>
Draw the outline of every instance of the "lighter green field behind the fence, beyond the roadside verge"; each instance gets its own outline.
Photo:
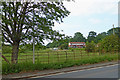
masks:
<path id="1" fill-rule="evenodd" d="M 11 54 L 3 54 L 9 61 L 11 60 Z M 80 60 L 85 57 L 98 56 L 99 53 L 86 53 L 83 50 L 61 50 L 61 51 L 35 51 L 35 61 L 41 63 L 54 63 L 54 62 L 64 62 L 66 60 Z M 32 61 L 33 53 L 29 51 L 27 53 L 19 53 L 18 62 Z M 5 63 L 5 61 L 3 60 Z"/>

